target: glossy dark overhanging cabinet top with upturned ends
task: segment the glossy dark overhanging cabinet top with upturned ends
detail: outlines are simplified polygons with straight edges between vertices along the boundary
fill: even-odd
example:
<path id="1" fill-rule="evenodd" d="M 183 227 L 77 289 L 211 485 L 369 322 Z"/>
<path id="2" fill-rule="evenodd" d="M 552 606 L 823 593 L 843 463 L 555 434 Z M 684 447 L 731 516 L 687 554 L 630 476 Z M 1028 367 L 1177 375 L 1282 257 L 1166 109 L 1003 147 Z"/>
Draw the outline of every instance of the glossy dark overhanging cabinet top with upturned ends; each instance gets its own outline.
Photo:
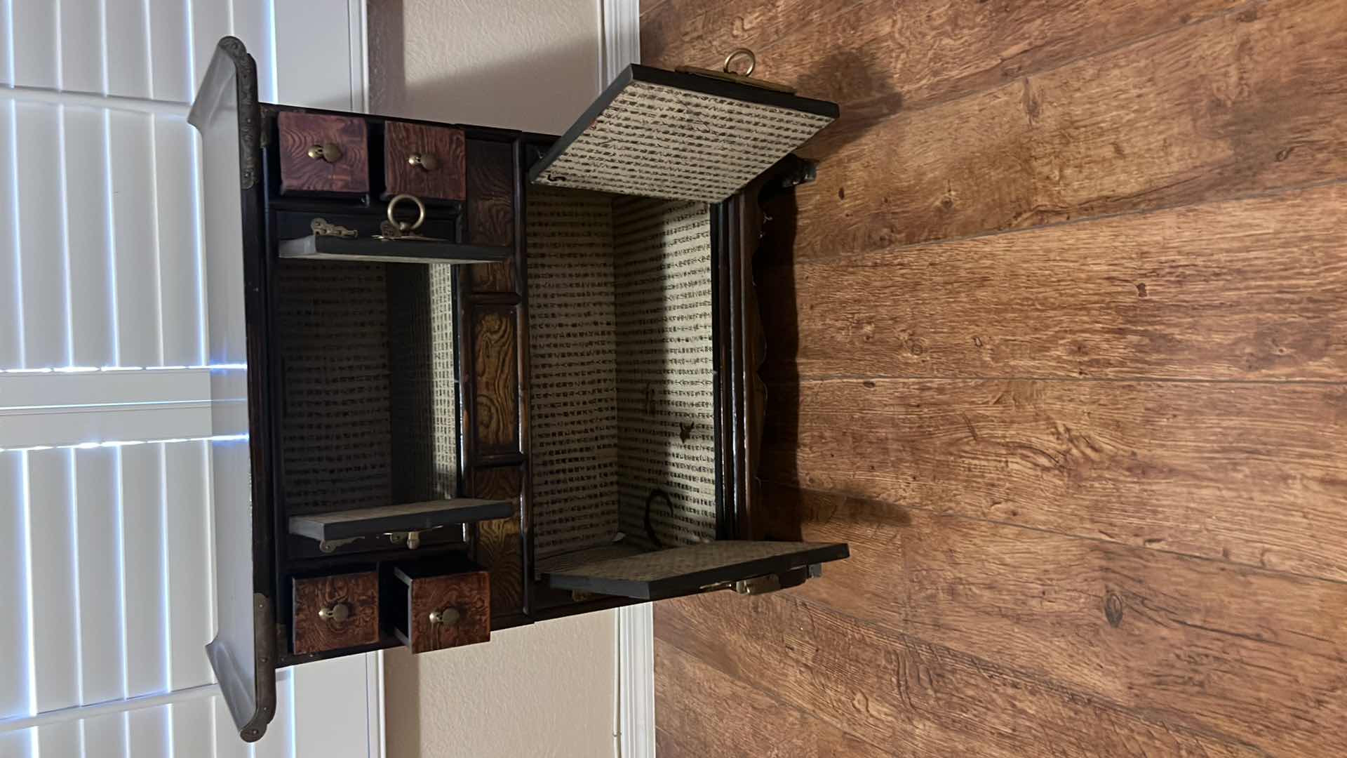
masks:
<path id="1" fill-rule="evenodd" d="M 211 394 L 217 634 L 206 654 L 240 736 L 261 739 L 276 713 L 271 585 L 271 438 L 263 351 L 261 151 L 257 67 L 220 40 L 187 116 L 202 138 L 202 214 Z"/>

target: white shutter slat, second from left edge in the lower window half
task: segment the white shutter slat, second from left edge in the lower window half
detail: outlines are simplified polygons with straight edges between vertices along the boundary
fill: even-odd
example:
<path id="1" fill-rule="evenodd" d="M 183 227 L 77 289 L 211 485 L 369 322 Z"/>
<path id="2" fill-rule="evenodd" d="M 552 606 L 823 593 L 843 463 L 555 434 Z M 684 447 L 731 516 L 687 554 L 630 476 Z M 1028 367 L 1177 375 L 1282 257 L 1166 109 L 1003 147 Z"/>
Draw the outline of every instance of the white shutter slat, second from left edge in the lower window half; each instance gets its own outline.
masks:
<path id="1" fill-rule="evenodd" d="M 75 638 L 75 545 L 70 508 L 70 450 L 31 450 L 27 457 L 32 606 L 32 672 L 36 711 L 79 703 Z"/>

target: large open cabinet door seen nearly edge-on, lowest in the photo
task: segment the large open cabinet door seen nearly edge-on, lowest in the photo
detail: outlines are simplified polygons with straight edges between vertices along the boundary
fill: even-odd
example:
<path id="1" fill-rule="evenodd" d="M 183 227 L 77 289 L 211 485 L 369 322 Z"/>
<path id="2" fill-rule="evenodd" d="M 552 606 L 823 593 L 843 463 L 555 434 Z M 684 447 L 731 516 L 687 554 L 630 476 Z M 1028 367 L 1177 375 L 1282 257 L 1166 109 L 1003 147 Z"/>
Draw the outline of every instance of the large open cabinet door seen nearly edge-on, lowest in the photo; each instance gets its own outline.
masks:
<path id="1" fill-rule="evenodd" d="M 725 540 L 594 561 L 547 576 L 558 589 L 664 600 L 711 589 L 769 592 L 800 584 L 812 566 L 849 554 L 841 542 Z"/>

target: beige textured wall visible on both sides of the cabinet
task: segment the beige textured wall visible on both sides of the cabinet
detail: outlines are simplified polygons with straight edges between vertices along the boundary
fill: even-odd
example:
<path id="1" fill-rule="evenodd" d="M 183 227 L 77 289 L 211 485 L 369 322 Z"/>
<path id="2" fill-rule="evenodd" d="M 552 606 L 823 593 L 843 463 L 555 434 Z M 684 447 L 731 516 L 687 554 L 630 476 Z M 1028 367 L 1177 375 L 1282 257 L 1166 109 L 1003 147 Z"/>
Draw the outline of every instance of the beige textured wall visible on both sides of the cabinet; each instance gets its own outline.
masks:
<path id="1" fill-rule="evenodd" d="M 598 0 L 370 0 L 376 113 L 560 134 L 599 92 Z M 389 758 L 613 754 L 613 614 L 385 657 Z"/>

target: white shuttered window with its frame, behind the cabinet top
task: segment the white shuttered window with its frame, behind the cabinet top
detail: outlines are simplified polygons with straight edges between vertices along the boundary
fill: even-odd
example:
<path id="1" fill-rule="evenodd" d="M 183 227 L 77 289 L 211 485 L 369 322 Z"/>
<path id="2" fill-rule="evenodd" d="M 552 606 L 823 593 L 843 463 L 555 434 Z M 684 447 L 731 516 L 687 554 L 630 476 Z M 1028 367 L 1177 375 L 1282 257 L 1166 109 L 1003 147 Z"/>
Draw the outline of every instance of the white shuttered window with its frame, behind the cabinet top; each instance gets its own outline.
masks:
<path id="1" fill-rule="evenodd" d="M 379 753 L 373 658 L 282 672 L 256 745 L 206 661 L 209 456 L 247 442 L 210 438 L 186 123 L 225 34 L 257 59 L 264 101 L 360 109 L 361 13 L 0 4 L 0 758 Z"/>

